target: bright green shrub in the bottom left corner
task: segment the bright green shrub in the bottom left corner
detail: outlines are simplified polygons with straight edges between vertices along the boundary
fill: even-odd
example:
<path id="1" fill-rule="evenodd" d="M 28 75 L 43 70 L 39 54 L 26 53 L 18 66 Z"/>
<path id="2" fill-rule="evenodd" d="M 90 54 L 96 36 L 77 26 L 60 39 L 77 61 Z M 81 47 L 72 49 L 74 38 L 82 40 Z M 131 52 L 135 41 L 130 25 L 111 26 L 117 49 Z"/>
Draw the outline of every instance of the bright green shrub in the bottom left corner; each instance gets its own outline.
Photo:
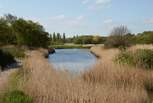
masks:
<path id="1" fill-rule="evenodd" d="M 25 95 L 22 91 L 14 90 L 7 93 L 3 103 L 33 103 L 30 96 Z"/>

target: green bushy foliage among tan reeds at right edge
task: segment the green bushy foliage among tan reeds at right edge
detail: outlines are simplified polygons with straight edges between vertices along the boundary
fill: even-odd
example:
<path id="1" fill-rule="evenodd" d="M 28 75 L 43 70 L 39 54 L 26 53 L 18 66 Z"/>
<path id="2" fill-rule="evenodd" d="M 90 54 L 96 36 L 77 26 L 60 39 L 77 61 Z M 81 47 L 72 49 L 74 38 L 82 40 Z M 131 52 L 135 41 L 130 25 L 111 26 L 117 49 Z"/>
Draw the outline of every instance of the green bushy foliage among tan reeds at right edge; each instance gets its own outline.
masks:
<path id="1" fill-rule="evenodd" d="M 138 49 L 135 52 L 121 52 L 116 56 L 115 62 L 145 69 L 153 69 L 153 50 Z"/>

